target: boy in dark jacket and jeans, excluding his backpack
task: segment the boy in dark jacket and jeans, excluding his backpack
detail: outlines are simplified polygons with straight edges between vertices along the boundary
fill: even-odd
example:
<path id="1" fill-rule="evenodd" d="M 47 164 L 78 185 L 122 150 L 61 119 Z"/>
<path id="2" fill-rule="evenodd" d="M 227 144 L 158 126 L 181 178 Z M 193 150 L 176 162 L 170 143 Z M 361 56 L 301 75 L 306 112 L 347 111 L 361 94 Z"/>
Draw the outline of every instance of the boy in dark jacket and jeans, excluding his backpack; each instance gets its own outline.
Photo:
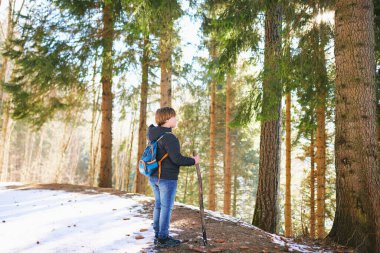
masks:
<path id="1" fill-rule="evenodd" d="M 155 244 L 159 247 L 175 247 L 180 244 L 169 236 L 170 217 L 173 209 L 177 190 L 179 166 L 192 166 L 199 163 L 199 156 L 186 157 L 181 155 L 177 137 L 172 133 L 172 128 L 177 126 L 176 113 L 171 107 L 163 107 L 156 111 L 156 123 L 150 125 L 148 138 L 150 141 L 158 140 L 157 160 L 162 160 L 161 176 L 158 171 L 149 177 L 152 187 L 155 205 L 153 211 L 153 229 L 155 231 Z M 162 137 L 160 139 L 160 137 Z"/>

